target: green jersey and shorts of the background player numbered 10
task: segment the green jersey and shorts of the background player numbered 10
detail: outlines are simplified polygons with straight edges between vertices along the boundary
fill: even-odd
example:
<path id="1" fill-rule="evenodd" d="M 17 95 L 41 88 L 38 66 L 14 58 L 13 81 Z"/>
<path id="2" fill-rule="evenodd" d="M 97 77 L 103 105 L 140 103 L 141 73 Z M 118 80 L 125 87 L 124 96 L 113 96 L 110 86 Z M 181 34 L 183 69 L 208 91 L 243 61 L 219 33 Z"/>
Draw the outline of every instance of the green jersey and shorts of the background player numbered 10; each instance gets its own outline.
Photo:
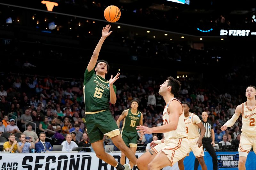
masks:
<path id="1" fill-rule="evenodd" d="M 131 109 L 128 109 L 128 114 L 124 118 L 124 124 L 122 127 L 122 138 L 128 147 L 137 148 L 138 133 L 136 127 L 140 125 L 140 119 L 140 111 L 132 113 Z"/>

